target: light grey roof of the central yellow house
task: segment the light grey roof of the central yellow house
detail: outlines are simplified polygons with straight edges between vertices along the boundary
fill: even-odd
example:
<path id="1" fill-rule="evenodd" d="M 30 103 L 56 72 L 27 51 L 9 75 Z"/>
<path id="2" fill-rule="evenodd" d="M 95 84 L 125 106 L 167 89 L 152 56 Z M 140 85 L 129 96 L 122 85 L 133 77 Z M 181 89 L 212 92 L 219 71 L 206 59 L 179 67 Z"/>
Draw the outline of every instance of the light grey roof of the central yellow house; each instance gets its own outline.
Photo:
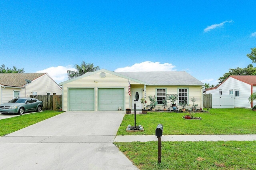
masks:
<path id="1" fill-rule="evenodd" d="M 66 84 L 83 77 L 87 77 L 98 72 L 105 71 L 107 73 L 130 79 L 132 81 L 144 84 L 144 85 L 204 85 L 201 81 L 186 73 L 185 71 L 154 71 L 154 72 L 114 72 L 106 69 L 100 69 L 94 72 L 87 72 L 80 77 L 70 79 L 60 83 L 60 85 Z"/>

